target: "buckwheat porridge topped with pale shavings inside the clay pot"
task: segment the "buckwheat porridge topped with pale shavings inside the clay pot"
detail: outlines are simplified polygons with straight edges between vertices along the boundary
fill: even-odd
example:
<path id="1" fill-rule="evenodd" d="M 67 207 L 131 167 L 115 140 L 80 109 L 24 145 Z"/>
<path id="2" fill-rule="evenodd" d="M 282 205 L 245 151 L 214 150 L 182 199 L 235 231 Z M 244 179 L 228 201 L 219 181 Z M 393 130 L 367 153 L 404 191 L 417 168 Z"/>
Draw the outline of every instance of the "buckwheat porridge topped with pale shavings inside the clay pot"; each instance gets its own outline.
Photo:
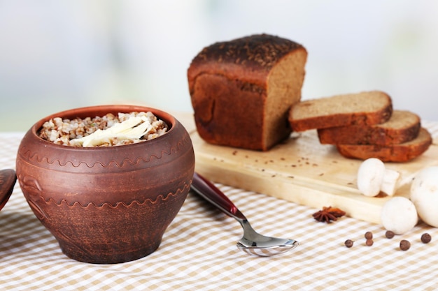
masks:
<path id="1" fill-rule="evenodd" d="M 71 147 L 110 147 L 145 142 L 167 132 L 167 124 L 152 112 L 108 113 L 103 117 L 45 121 L 39 137 Z"/>

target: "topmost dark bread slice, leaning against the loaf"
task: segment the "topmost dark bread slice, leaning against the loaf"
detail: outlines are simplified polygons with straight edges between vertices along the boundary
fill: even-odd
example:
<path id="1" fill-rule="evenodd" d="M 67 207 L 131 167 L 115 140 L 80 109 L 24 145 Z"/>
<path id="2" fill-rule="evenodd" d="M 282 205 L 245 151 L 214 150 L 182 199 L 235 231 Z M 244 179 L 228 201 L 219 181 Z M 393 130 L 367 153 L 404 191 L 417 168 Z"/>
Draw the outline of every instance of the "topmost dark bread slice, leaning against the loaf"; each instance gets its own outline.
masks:
<path id="1" fill-rule="evenodd" d="M 382 124 L 388 121 L 392 113 L 393 102 L 388 94 L 366 91 L 299 102 L 290 108 L 288 119 L 292 130 L 304 131 Z"/>

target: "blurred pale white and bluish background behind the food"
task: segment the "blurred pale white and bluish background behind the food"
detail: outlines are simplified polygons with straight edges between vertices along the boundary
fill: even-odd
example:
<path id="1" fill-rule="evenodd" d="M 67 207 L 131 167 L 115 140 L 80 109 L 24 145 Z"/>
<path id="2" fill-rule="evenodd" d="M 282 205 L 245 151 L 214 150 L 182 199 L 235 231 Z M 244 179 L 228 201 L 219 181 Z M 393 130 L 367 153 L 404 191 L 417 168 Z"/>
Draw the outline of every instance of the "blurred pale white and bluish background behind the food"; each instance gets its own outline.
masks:
<path id="1" fill-rule="evenodd" d="M 206 45 L 253 33 L 309 52 L 303 99 L 379 89 L 438 121 L 435 0 L 0 0 L 0 130 L 71 107 L 192 112 Z"/>

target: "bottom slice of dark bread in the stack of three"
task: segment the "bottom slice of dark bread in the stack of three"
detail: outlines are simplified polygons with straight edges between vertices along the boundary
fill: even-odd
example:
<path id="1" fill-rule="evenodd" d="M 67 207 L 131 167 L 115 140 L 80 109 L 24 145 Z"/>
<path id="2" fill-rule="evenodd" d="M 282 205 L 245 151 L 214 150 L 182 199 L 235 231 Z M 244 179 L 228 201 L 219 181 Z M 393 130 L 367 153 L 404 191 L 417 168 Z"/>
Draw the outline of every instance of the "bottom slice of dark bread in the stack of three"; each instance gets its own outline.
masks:
<path id="1" fill-rule="evenodd" d="M 402 144 L 381 146 L 377 144 L 337 144 L 339 154 L 346 158 L 379 158 L 383 162 L 407 162 L 423 154 L 432 144 L 432 136 L 425 128 L 418 137 Z"/>

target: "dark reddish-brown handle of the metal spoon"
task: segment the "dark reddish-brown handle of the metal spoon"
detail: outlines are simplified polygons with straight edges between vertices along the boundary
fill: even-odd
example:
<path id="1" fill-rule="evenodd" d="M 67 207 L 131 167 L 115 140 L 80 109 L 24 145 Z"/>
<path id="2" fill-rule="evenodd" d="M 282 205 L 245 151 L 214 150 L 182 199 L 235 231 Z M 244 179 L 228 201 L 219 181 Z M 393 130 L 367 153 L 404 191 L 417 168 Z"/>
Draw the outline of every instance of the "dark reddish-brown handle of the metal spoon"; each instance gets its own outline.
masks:
<path id="1" fill-rule="evenodd" d="M 193 175 L 192 189 L 225 214 L 236 219 L 246 220 L 246 217 L 222 191 L 196 172 Z"/>

